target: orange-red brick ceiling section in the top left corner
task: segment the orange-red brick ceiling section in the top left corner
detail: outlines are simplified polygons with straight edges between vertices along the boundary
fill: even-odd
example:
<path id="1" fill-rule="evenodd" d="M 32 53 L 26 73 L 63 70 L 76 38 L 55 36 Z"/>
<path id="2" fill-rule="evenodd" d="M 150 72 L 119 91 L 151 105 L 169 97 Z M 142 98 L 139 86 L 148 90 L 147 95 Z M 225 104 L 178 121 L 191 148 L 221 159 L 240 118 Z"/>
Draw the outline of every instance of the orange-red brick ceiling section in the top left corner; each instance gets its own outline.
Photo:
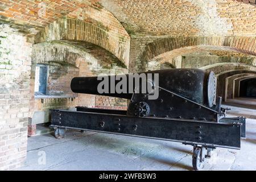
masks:
<path id="1" fill-rule="evenodd" d="M 36 33 L 57 18 L 79 8 L 99 6 L 96 2 L 97 0 L 1 0 L 0 22 L 10 23 L 25 34 Z"/>

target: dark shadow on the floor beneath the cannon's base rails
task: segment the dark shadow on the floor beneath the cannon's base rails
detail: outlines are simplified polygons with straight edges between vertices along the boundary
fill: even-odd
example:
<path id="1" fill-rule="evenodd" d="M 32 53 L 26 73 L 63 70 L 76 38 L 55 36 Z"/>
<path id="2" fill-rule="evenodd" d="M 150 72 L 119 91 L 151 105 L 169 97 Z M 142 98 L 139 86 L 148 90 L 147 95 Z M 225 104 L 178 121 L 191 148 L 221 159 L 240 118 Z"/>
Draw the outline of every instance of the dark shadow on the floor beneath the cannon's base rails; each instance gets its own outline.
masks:
<path id="1" fill-rule="evenodd" d="M 90 144 L 92 146 L 100 147 L 104 150 L 108 150 L 114 153 L 122 154 L 122 155 L 130 155 L 135 156 L 137 158 L 143 157 L 144 159 L 150 159 L 153 162 L 159 162 L 162 164 L 167 164 L 168 166 L 178 167 L 182 169 L 191 170 L 191 166 L 187 166 L 185 164 L 179 163 L 179 159 L 174 162 L 170 162 L 170 159 L 163 159 L 161 155 L 158 155 L 158 151 L 161 150 L 160 148 L 172 150 L 169 154 L 172 155 L 172 152 L 178 151 L 185 153 L 185 155 L 192 155 L 193 152 L 190 150 L 185 150 L 179 147 L 167 146 L 166 144 L 161 145 L 161 143 L 150 142 L 151 139 L 143 139 L 143 141 L 138 142 L 138 140 L 131 139 L 133 137 L 127 137 L 127 140 L 119 139 L 118 135 L 112 134 L 102 134 L 96 133 L 94 135 L 88 135 L 83 138 L 77 140 L 77 142 L 81 144 Z M 147 142 L 148 140 L 148 142 Z M 182 155 L 181 155 L 182 157 Z"/>

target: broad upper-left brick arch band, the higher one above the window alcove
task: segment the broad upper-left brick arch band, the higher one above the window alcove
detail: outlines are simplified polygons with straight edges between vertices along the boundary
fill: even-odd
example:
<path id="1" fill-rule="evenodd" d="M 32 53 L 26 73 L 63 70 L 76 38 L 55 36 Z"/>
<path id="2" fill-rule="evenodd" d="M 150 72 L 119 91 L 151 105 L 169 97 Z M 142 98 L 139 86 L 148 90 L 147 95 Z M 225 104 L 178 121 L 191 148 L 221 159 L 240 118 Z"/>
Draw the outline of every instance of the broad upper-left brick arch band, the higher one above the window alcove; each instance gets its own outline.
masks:
<path id="1" fill-rule="evenodd" d="M 102 9 L 79 9 L 48 24 L 35 35 L 34 43 L 53 40 L 75 40 L 93 43 L 105 48 L 129 65 L 130 36 L 118 20 L 103 7 Z"/>

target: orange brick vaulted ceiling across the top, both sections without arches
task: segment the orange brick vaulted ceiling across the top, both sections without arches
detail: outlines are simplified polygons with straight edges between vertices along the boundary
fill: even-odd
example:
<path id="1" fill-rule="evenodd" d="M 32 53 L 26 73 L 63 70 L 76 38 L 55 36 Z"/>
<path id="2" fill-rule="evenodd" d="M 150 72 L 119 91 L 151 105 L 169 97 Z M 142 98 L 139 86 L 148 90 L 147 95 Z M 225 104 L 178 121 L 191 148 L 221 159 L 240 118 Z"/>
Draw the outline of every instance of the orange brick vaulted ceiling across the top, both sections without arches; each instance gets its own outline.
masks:
<path id="1" fill-rule="evenodd" d="M 0 22 L 36 34 L 77 9 L 101 5 L 131 36 L 256 35 L 255 0 L 0 0 Z"/>

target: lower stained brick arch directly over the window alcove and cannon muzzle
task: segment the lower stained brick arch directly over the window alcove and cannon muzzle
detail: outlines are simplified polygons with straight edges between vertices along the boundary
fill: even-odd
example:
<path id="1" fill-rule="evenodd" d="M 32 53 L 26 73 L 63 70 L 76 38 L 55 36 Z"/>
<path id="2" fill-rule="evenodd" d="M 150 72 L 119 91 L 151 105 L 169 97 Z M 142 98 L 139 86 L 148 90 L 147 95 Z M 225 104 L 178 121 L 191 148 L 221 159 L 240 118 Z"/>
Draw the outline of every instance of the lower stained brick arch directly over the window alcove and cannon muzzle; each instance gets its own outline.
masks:
<path id="1" fill-rule="evenodd" d="M 46 61 L 65 62 L 75 65 L 79 57 L 84 57 L 92 65 L 100 64 L 103 68 L 111 69 L 114 65 L 127 69 L 117 57 L 106 49 L 89 42 L 79 41 L 54 41 L 34 44 L 32 51 L 32 64 Z"/>

